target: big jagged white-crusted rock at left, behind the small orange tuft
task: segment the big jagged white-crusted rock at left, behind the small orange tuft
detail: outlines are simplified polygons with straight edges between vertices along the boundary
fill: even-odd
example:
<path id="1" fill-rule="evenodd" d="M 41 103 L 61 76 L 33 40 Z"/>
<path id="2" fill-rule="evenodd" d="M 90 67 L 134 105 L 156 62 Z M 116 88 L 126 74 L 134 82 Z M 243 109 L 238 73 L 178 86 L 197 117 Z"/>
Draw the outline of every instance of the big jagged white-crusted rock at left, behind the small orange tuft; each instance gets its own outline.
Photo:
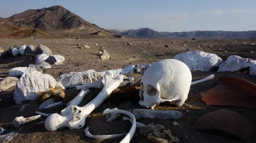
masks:
<path id="1" fill-rule="evenodd" d="M 36 69 L 28 67 L 16 83 L 13 95 L 14 101 L 16 104 L 21 104 L 21 101 L 24 100 L 36 100 L 37 93 L 49 89 L 50 86 L 60 86 L 64 89 L 64 86 L 51 75 L 42 74 Z"/>

